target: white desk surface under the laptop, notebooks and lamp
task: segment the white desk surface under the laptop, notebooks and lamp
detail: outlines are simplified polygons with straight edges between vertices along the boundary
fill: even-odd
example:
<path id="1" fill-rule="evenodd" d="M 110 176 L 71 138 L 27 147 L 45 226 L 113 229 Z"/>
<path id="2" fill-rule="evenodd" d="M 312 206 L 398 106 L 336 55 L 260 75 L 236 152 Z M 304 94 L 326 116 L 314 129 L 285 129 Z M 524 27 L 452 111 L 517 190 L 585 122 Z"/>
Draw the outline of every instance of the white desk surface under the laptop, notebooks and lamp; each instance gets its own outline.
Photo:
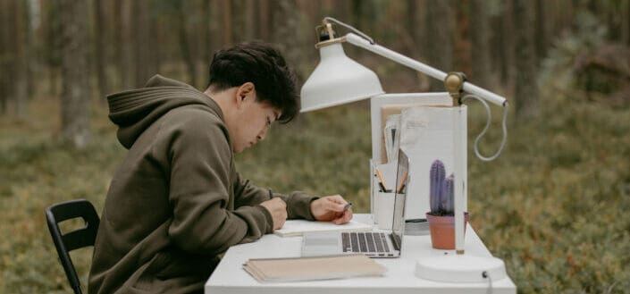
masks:
<path id="1" fill-rule="evenodd" d="M 355 214 L 355 221 L 372 222 L 370 214 Z M 431 247 L 430 236 L 405 236 L 403 252 L 399 258 L 375 258 L 387 267 L 383 277 L 352 278 L 329 281 L 299 281 L 281 283 L 259 283 L 245 270 L 243 263 L 248 258 L 300 256 L 301 237 L 281 238 L 265 235 L 254 243 L 232 246 L 223 260 L 206 281 L 206 294 L 283 294 L 283 293 L 516 293 L 517 286 L 509 277 L 488 283 L 443 283 L 416 278 L 416 259 L 424 256 L 455 254 L 454 250 L 437 250 Z M 466 228 L 466 254 L 491 256 L 475 231 Z"/>

